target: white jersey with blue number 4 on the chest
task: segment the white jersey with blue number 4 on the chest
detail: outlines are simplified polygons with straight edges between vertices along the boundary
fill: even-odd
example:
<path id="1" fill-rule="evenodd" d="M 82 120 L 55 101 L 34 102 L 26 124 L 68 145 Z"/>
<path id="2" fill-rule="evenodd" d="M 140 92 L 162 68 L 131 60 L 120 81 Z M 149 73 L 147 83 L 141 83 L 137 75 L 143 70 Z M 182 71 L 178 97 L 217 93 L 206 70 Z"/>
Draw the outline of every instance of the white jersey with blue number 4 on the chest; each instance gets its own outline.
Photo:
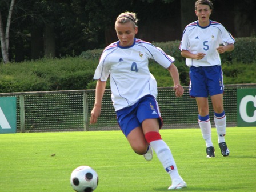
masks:
<path id="1" fill-rule="evenodd" d="M 94 79 L 107 81 L 115 110 L 134 105 L 145 95 L 157 98 L 157 81 L 149 71 L 149 59 L 168 68 L 174 60 L 149 42 L 134 38 L 133 45 L 121 47 L 119 41 L 103 51 Z"/>

